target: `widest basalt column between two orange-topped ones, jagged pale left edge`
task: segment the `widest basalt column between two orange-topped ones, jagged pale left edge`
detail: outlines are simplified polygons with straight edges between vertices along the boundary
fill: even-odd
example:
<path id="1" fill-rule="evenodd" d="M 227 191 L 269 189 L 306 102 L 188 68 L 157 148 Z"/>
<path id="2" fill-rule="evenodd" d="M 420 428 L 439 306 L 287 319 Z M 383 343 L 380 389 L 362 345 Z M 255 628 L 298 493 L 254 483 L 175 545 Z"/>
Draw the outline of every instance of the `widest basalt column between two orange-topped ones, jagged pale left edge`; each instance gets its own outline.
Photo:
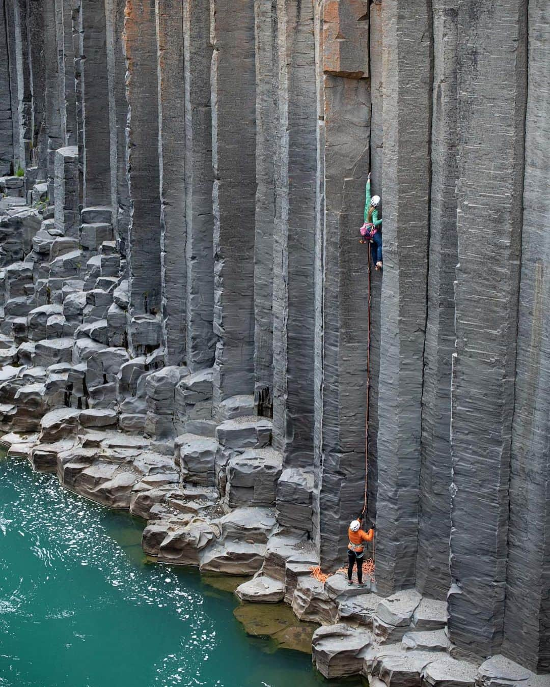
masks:
<path id="1" fill-rule="evenodd" d="M 214 166 L 214 407 L 254 392 L 254 0 L 210 0 Z"/>

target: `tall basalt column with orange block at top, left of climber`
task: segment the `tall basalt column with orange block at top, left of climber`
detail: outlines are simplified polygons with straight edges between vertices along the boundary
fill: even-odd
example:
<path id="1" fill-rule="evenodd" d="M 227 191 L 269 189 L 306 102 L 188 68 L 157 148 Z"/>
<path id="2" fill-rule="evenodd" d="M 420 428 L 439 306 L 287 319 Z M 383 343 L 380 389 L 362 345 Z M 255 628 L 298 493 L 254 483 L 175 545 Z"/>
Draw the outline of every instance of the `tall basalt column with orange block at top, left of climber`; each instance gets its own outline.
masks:
<path id="1" fill-rule="evenodd" d="M 325 170 L 322 243 L 321 477 L 315 530 L 321 565 L 334 570 L 347 548 L 349 521 L 364 504 L 367 260 L 358 241 L 369 172 L 369 3 L 325 1 L 322 30 Z"/>

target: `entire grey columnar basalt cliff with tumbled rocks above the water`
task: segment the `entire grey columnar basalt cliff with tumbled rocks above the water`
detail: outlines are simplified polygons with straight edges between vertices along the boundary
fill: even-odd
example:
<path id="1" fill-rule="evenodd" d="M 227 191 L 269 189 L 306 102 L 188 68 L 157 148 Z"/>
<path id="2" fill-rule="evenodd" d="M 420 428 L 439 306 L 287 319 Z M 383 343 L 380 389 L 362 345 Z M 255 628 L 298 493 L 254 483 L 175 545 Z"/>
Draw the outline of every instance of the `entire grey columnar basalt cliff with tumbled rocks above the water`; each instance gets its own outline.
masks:
<path id="1" fill-rule="evenodd" d="M 0 3 L 10 454 L 327 677 L 550 684 L 547 0 Z"/>

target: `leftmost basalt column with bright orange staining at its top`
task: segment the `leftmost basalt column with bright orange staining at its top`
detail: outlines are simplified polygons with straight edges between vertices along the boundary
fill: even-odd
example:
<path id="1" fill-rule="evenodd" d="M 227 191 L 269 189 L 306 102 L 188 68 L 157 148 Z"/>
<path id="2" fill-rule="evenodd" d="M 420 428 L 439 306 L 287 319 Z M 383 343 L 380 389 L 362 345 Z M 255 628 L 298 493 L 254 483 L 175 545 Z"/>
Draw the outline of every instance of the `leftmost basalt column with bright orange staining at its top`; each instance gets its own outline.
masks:
<path id="1" fill-rule="evenodd" d="M 133 328 L 144 329 L 154 323 L 140 317 L 160 311 L 160 199 L 158 154 L 158 82 L 155 0 L 126 0 L 124 17 L 124 54 L 126 57 L 126 98 L 129 104 L 127 169 L 130 194 L 129 226 L 129 313 Z M 142 324 L 143 323 L 143 324 Z M 135 332 L 137 334 L 137 332 Z M 143 339 L 153 346 L 155 337 Z M 151 333 L 153 334 L 153 333 Z"/>

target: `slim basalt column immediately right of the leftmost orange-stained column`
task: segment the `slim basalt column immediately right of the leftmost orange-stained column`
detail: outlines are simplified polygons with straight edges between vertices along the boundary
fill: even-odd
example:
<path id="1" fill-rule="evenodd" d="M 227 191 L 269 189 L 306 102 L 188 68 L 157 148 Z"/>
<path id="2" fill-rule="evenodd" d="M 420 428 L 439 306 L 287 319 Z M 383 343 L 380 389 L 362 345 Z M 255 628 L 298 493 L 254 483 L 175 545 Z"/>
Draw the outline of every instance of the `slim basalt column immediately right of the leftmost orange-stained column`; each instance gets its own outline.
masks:
<path id="1" fill-rule="evenodd" d="M 168 365 L 186 361 L 184 28 L 181 0 L 156 0 L 162 331 Z"/>

